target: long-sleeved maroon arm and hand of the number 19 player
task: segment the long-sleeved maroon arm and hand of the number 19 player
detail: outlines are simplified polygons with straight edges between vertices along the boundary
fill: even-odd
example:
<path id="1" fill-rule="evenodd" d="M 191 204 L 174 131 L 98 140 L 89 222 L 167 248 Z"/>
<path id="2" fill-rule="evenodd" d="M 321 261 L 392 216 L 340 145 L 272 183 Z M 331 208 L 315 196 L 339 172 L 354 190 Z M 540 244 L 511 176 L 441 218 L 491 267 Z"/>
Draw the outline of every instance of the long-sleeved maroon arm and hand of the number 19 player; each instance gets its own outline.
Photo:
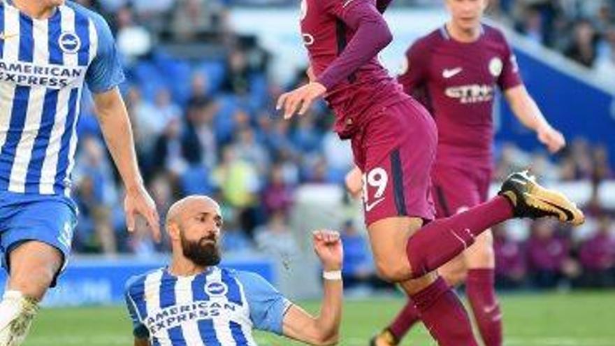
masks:
<path id="1" fill-rule="evenodd" d="M 297 110 L 299 115 L 303 115 L 315 99 L 352 75 L 393 40 L 389 26 L 372 1 L 326 0 L 321 6 L 324 14 L 335 15 L 355 34 L 316 81 L 280 96 L 277 109 L 284 109 L 285 119 L 292 117 Z"/>

